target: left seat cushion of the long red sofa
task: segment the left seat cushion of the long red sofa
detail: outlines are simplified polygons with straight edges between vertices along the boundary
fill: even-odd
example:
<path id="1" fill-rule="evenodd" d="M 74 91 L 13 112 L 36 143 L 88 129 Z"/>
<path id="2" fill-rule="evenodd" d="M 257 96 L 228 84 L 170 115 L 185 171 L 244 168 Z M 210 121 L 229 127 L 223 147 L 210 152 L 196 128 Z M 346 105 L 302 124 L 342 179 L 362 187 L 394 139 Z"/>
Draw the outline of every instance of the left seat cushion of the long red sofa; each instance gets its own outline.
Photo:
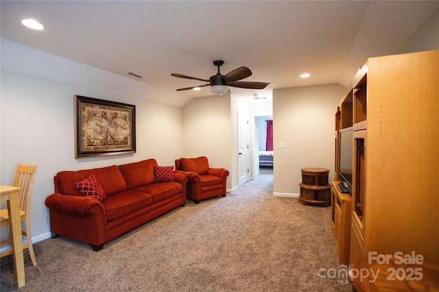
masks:
<path id="1" fill-rule="evenodd" d="M 102 201 L 102 206 L 104 206 L 108 221 L 126 216 L 151 204 L 151 194 L 136 191 L 123 191 Z"/>

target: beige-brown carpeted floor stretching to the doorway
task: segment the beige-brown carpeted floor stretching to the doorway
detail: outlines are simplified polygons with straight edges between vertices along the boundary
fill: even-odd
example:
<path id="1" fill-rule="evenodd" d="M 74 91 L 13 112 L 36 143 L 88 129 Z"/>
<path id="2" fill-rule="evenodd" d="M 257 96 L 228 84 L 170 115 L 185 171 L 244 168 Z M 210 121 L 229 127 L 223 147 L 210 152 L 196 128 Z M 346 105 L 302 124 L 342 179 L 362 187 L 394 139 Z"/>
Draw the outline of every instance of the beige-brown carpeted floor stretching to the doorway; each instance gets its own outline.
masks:
<path id="1" fill-rule="evenodd" d="M 19 291 L 351 291 L 330 212 L 272 196 L 272 174 L 263 171 L 227 197 L 188 200 L 100 252 L 62 237 L 40 241 L 36 267 L 25 251 Z M 17 290 L 12 273 L 12 256 L 1 258 L 1 291 Z"/>

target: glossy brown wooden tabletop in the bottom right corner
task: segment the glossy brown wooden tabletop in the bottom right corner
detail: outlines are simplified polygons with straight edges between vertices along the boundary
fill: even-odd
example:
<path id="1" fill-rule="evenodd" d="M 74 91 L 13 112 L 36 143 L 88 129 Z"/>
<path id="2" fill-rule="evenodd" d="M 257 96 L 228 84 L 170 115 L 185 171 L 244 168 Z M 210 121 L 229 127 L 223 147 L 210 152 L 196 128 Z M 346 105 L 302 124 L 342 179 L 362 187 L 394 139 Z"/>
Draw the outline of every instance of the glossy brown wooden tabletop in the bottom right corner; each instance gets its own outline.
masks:
<path id="1" fill-rule="evenodd" d="M 349 281 L 355 291 L 439 291 L 439 266 L 423 263 L 401 263 L 401 256 L 368 263 L 368 256 L 349 265 Z"/>

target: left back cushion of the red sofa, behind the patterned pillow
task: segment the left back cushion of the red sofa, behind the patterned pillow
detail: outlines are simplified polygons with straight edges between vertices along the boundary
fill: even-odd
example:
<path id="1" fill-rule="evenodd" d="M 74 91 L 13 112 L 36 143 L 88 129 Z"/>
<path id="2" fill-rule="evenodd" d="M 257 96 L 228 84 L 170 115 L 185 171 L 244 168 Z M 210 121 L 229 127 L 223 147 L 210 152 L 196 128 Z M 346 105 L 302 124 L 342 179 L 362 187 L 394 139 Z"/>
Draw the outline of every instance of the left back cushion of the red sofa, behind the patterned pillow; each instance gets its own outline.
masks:
<path id="1" fill-rule="evenodd" d="M 80 171 L 60 171 L 54 178 L 55 192 L 64 195 L 83 196 L 78 188 L 76 188 L 75 183 L 88 178 L 92 174 L 95 175 L 106 195 L 126 191 L 126 183 L 121 171 L 119 171 L 119 167 L 112 165 L 111 167 Z"/>

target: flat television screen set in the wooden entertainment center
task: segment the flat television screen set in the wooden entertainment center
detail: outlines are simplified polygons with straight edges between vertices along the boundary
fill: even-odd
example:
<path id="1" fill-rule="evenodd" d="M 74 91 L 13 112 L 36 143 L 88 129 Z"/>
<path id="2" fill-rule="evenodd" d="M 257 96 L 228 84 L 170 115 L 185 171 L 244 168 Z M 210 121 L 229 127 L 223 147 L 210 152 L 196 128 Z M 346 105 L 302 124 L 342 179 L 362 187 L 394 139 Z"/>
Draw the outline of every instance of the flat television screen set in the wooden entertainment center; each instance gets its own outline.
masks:
<path id="1" fill-rule="evenodd" d="M 341 182 L 346 186 L 349 193 L 352 190 L 353 172 L 353 127 L 340 130 L 340 157 L 338 163 L 338 175 Z"/>

